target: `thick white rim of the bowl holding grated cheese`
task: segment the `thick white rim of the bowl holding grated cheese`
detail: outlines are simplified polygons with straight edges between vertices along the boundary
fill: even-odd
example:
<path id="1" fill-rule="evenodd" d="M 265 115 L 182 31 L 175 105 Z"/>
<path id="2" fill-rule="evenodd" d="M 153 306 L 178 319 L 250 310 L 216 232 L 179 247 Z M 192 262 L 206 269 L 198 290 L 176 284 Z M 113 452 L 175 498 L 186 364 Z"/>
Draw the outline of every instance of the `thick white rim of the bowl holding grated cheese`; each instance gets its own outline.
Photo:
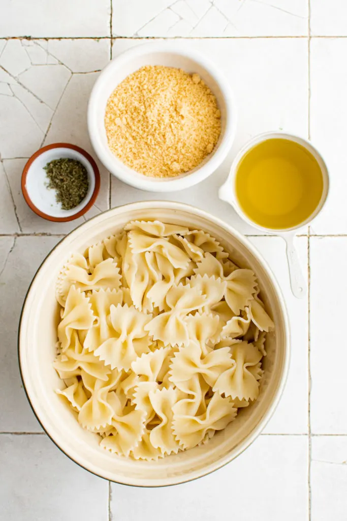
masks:
<path id="1" fill-rule="evenodd" d="M 96 124 L 98 118 L 97 104 L 100 90 L 104 85 L 105 78 L 110 75 L 114 69 L 121 68 L 128 60 L 132 60 L 133 58 L 144 56 L 149 53 L 172 53 L 196 61 L 218 84 L 226 106 L 225 130 L 221 138 L 221 142 L 216 148 L 214 154 L 207 160 L 205 164 L 203 164 L 201 167 L 198 166 L 195 172 L 187 173 L 187 175 L 184 175 L 183 177 L 165 179 L 162 182 L 156 180 L 156 178 L 151 178 L 145 175 L 143 175 L 143 178 L 135 178 L 132 175 L 129 175 L 129 170 L 131 169 L 125 167 L 125 165 L 123 166 L 120 160 L 118 160 L 118 163 L 115 163 L 113 158 L 106 154 L 106 148 L 101 142 L 100 133 L 96 130 L 98 128 Z M 100 159 L 101 163 L 108 169 L 108 171 L 112 173 L 112 175 L 134 188 L 147 190 L 149 192 L 163 193 L 183 190 L 184 188 L 189 188 L 209 177 L 223 163 L 228 152 L 230 151 L 230 148 L 232 147 L 235 140 L 237 127 L 237 109 L 235 96 L 229 81 L 225 78 L 223 72 L 213 64 L 212 60 L 205 58 L 203 54 L 195 51 L 195 49 L 184 47 L 181 42 L 177 41 L 155 41 L 140 43 L 134 47 L 126 49 L 121 54 L 119 54 L 119 56 L 113 58 L 110 63 L 100 72 L 100 75 L 94 83 L 92 92 L 89 96 L 87 108 L 87 126 L 89 138 L 96 155 Z"/>

